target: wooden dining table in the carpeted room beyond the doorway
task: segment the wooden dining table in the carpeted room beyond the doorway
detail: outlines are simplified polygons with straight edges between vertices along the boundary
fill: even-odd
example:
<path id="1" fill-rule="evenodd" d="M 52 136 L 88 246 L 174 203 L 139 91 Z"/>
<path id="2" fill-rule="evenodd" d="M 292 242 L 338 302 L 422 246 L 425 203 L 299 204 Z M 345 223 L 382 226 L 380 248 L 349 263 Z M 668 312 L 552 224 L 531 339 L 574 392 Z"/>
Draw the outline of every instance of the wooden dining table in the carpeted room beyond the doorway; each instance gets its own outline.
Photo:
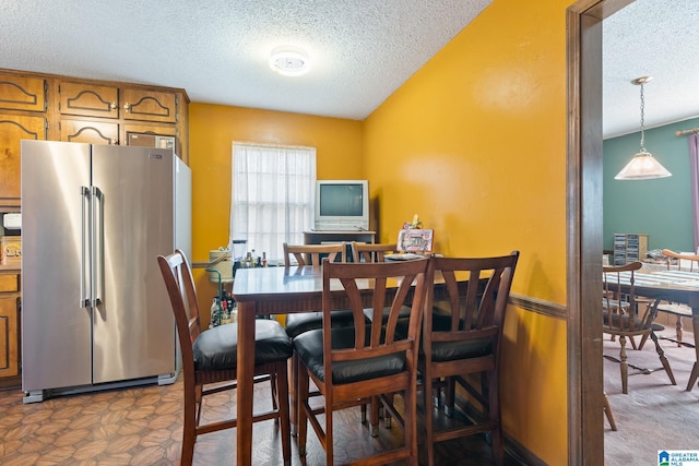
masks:
<path id="1" fill-rule="evenodd" d="M 628 276 L 623 283 L 623 290 L 630 287 Z M 687 391 L 691 391 L 699 377 L 699 273 L 688 271 L 647 271 L 641 268 L 633 274 L 637 296 L 657 298 L 665 301 L 687 304 L 691 308 L 691 326 L 695 338 L 695 363 L 687 382 Z M 626 288 L 625 288 L 626 287 Z"/>

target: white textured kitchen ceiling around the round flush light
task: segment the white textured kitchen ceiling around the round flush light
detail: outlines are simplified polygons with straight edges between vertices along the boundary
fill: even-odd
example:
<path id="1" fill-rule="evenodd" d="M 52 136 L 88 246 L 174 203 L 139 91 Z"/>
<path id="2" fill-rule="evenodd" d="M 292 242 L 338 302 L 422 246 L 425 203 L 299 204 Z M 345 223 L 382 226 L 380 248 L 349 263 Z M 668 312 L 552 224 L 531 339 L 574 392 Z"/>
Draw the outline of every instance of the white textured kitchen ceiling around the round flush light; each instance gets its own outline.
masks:
<path id="1" fill-rule="evenodd" d="M 0 67 L 362 120 L 490 0 L 2 0 Z M 301 77 L 273 48 L 305 48 Z"/>

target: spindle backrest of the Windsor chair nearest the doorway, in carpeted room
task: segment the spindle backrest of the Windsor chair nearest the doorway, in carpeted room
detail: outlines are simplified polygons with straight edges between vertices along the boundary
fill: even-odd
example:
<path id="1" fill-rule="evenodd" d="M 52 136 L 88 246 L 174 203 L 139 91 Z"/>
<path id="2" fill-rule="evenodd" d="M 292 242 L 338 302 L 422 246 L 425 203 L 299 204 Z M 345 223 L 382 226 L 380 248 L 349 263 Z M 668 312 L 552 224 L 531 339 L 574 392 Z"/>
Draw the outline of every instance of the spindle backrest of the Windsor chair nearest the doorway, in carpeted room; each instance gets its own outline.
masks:
<path id="1" fill-rule="evenodd" d="M 636 296 L 639 261 L 625 265 L 605 265 L 603 273 L 603 326 L 614 332 L 645 332 L 657 314 L 657 299 Z"/>

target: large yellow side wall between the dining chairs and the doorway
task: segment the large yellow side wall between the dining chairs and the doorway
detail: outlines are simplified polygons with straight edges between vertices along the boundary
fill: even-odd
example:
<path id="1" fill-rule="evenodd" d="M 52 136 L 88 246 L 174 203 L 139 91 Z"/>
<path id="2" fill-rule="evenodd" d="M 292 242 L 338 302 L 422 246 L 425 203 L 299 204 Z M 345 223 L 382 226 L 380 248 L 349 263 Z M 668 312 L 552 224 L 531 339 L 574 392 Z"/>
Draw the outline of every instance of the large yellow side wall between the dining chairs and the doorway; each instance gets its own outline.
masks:
<path id="1" fill-rule="evenodd" d="M 566 8 L 495 0 L 365 121 L 381 239 L 419 214 L 449 255 L 521 251 L 513 292 L 566 302 Z M 510 309 L 508 434 L 567 463 L 566 322 Z"/>

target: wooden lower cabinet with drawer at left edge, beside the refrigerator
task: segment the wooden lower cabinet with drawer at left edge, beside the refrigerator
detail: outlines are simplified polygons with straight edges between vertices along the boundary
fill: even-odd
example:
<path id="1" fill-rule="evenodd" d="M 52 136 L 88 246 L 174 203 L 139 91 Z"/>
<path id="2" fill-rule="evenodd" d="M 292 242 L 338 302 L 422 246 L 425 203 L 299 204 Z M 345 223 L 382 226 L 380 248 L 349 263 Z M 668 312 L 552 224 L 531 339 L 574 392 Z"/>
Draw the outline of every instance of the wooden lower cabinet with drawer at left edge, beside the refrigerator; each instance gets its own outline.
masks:
<path id="1" fill-rule="evenodd" d="M 20 373 L 17 300 L 20 275 L 0 275 L 0 378 Z"/>

